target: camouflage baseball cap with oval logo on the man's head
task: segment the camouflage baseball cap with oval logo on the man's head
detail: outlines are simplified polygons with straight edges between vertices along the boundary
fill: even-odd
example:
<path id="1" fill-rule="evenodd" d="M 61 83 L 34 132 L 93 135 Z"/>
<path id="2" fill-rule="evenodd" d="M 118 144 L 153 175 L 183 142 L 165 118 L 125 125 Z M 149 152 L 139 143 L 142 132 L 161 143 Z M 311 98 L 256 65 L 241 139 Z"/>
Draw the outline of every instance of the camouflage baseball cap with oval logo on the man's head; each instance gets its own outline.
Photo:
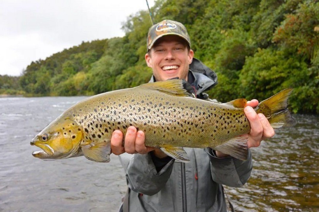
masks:
<path id="1" fill-rule="evenodd" d="M 190 38 L 187 33 L 186 27 L 177 21 L 163 20 L 153 26 L 148 30 L 147 36 L 147 51 L 149 51 L 154 43 L 161 37 L 165 35 L 177 35 L 184 38 L 190 47 Z"/>

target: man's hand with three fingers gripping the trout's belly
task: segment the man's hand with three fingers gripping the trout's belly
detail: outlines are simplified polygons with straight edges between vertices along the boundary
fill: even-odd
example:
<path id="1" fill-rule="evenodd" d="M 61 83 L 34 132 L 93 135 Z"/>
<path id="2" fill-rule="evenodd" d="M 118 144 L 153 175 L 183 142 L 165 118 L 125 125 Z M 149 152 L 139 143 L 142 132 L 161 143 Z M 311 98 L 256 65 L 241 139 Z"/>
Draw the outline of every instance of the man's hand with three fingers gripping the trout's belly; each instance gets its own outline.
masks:
<path id="1" fill-rule="evenodd" d="M 122 146 L 123 133 L 120 130 L 115 130 L 112 134 L 111 138 L 111 149 L 112 153 L 119 155 L 124 152 L 129 154 L 146 154 L 152 150 L 154 147 L 146 147 L 145 146 L 145 134 L 143 131 L 138 131 L 133 126 L 130 126 L 127 129 L 125 134 L 125 142 L 124 146 Z M 160 150 L 159 150 L 160 151 Z"/>

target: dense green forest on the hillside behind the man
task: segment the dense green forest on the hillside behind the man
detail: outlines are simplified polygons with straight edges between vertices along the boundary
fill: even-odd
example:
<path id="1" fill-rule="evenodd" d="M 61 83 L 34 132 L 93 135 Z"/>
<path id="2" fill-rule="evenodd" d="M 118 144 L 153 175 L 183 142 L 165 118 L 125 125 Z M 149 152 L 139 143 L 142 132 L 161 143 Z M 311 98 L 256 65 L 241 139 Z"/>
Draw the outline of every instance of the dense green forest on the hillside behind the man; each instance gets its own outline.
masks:
<path id="1" fill-rule="evenodd" d="M 319 113 L 318 0 L 158 0 L 151 11 L 154 22 L 185 24 L 195 57 L 218 75 L 211 98 L 262 100 L 292 87 L 293 112 Z M 145 83 L 152 75 L 144 60 L 150 26 L 148 11 L 139 11 L 123 23 L 124 37 L 33 61 L 12 84 L 0 76 L 0 92 L 93 95 Z"/>

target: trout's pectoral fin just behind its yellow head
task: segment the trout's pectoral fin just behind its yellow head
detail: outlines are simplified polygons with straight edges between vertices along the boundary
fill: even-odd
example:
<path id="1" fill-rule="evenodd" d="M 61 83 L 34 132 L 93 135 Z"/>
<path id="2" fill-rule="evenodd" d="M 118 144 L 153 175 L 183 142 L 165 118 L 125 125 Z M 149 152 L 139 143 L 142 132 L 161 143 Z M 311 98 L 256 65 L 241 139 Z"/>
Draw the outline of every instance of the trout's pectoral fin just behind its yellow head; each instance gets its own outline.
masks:
<path id="1" fill-rule="evenodd" d="M 84 156 L 95 162 L 108 163 L 110 162 L 111 146 L 108 142 L 103 142 L 97 145 L 85 145 L 82 147 Z"/>

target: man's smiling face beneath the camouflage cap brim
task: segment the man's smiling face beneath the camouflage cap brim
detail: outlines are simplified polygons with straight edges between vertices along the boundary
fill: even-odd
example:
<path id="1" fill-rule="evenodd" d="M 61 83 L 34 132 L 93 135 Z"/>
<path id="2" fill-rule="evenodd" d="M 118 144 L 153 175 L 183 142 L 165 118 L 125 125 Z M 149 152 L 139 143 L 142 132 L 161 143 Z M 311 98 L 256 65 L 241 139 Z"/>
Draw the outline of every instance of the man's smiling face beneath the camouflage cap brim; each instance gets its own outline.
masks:
<path id="1" fill-rule="evenodd" d="M 193 50 L 188 51 L 183 38 L 166 35 L 159 38 L 152 49 L 146 53 L 145 60 L 147 66 L 153 69 L 156 81 L 175 77 L 187 80 L 189 64 L 193 56 Z"/>

